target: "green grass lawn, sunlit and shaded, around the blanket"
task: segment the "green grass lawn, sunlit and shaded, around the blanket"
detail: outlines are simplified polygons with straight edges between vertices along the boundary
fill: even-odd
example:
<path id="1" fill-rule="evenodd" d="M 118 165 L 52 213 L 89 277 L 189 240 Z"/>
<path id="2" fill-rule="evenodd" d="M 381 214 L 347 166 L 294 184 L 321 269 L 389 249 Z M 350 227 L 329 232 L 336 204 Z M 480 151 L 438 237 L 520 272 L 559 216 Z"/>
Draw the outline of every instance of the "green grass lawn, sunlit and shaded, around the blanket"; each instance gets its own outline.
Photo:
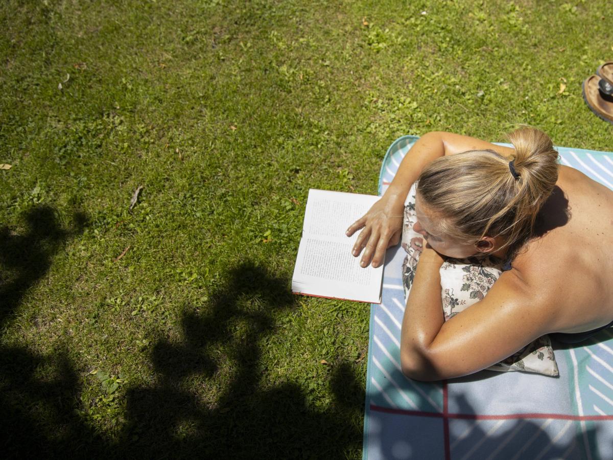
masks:
<path id="1" fill-rule="evenodd" d="M 375 193 L 389 144 L 432 130 L 613 150 L 581 97 L 611 19 L 604 1 L 2 2 L 9 456 L 359 458 L 368 307 L 289 292 L 308 189 Z"/>

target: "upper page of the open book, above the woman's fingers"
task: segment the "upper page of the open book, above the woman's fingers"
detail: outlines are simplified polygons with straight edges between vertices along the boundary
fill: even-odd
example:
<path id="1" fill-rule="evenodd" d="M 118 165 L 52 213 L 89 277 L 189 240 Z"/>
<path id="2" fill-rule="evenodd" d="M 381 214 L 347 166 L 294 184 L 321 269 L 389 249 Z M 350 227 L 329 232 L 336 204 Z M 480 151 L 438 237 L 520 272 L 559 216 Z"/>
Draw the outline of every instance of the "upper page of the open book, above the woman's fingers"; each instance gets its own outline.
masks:
<path id="1" fill-rule="evenodd" d="M 378 196 L 373 195 L 312 188 L 308 194 L 303 237 L 336 237 L 353 245 L 359 231 L 351 238 L 348 238 L 345 232 L 349 225 L 362 217 L 378 199 Z"/>

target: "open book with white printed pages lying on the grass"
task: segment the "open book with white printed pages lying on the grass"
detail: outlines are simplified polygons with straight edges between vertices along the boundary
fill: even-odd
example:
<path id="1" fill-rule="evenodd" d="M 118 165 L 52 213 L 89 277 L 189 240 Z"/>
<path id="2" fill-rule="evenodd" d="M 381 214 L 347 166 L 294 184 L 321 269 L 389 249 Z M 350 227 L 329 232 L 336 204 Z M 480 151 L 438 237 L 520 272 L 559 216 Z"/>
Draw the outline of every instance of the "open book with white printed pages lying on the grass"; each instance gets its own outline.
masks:
<path id="1" fill-rule="evenodd" d="M 292 291 L 317 297 L 381 303 L 383 264 L 360 267 L 351 255 L 359 231 L 345 235 L 378 196 L 316 190 L 308 193 L 302 240 L 292 277 Z"/>

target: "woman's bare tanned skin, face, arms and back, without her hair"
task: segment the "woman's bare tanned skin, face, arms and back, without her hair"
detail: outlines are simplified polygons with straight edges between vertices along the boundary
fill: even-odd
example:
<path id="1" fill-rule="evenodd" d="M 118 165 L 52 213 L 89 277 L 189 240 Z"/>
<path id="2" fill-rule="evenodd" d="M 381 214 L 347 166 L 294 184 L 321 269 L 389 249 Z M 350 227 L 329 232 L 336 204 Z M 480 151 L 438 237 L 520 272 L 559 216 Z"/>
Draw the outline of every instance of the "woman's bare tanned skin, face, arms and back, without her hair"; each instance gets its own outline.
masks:
<path id="1" fill-rule="evenodd" d="M 429 132 L 405 156 L 386 191 L 348 236 L 362 266 L 379 266 L 402 236 L 409 188 L 430 161 L 469 150 L 509 147 L 449 132 Z M 511 174 L 509 172 L 509 174 Z M 439 270 L 444 255 L 470 256 L 499 250 L 504 240 L 479 245 L 436 232 L 437 212 L 416 200 L 414 229 L 427 241 L 406 305 L 401 361 L 405 375 L 441 380 L 473 374 L 511 356 L 550 332 L 585 332 L 613 320 L 613 191 L 571 167 L 560 166 L 554 193 L 539 212 L 536 236 L 525 243 L 484 299 L 444 321 Z M 442 256 L 441 256 L 442 255 Z"/>

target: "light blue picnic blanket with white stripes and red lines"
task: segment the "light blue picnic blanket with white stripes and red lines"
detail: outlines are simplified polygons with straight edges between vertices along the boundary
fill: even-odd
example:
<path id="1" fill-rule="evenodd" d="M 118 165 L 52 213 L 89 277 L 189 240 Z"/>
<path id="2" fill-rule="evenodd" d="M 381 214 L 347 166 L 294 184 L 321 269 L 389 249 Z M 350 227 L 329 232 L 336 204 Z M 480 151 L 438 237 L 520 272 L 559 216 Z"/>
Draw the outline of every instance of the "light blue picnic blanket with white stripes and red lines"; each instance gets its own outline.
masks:
<path id="1" fill-rule="evenodd" d="M 387 150 L 379 195 L 417 139 Z M 613 153 L 556 149 L 562 164 L 613 190 Z M 399 245 L 387 251 L 381 304 L 371 304 L 364 459 L 613 459 L 613 328 L 574 347 L 554 343 L 559 377 L 483 370 L 410 380 L 400 370 L 405 255 Z"/>

